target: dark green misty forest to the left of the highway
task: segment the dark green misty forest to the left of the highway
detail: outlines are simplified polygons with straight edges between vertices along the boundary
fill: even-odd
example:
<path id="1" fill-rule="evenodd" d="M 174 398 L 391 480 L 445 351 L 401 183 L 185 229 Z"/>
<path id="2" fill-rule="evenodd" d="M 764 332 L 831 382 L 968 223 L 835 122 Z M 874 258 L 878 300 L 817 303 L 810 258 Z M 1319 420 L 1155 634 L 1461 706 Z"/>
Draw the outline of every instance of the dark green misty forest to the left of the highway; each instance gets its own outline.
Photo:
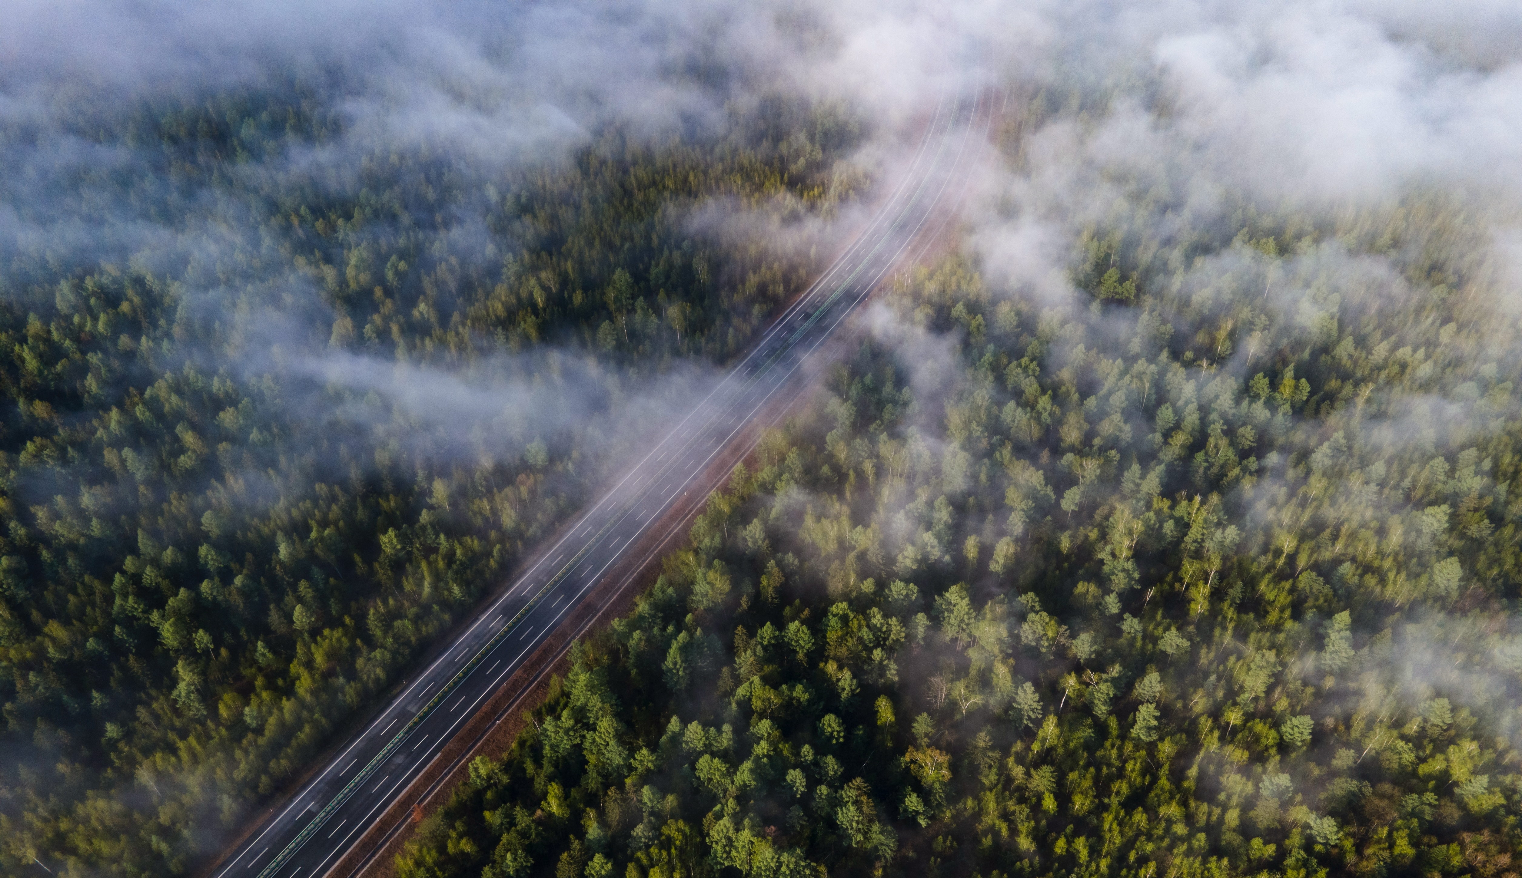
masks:
<path id="1" fill-rule="evenodd" d="M 828 107 L 484 173 L 335 91 L 0 131 L 93 157 L 0 178 L 0 870 L 215 852 L 811 271 L 693 213 L 864 186 Z"/>

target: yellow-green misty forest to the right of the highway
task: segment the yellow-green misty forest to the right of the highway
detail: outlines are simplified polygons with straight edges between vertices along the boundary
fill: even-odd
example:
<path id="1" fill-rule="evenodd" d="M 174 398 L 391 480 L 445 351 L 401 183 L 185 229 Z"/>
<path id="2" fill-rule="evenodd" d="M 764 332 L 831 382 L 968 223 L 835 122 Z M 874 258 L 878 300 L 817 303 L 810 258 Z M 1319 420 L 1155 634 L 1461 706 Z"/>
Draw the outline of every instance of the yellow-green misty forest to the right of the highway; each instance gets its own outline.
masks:
<path id="1" fill-rule="evenodd" d="M 1484 224 L 1129 195 L 1076 301 L 898 282 L 400 873 L 1514 873 Z"/>

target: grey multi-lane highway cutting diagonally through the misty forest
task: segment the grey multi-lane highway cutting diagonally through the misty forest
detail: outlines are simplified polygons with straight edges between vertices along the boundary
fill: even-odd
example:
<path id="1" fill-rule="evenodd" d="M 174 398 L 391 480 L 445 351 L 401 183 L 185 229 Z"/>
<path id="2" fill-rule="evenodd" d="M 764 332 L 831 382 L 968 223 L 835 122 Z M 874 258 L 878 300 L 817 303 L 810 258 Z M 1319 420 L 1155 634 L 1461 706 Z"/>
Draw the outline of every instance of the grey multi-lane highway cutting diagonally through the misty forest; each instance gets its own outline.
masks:
<path id="1" fill-rule="evenodd" d="M 216 867 L 215 878 L 329 873 L 466 721 L 626 554 L 703 482 L 711 464 L 755 434 L 753 420 L 799 391 L 794 377 L 933 231 L 963 158 L 989 123 L 988 97 L 944 100 L 896 187 L 837 260 L 763 333 L 746 358 L 633 464 L 595 505 L 533 555 L 505 592 L 321 770 Z M 706 491 L 705 491 L 706 493 Z"/>

